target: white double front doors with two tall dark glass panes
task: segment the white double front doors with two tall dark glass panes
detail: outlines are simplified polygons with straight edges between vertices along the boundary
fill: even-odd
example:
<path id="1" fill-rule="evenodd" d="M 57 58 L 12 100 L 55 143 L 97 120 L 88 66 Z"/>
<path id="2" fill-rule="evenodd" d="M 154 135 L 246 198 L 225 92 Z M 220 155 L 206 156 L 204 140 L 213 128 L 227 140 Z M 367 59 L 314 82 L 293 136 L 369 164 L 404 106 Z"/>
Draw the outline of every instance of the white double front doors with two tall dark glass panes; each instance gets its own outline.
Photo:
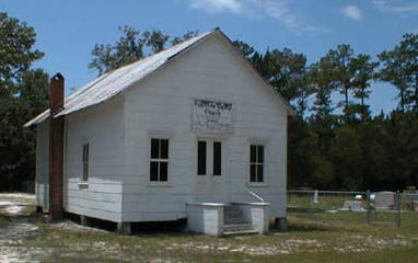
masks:
<path id="1" fill-rule="evenodd" d="M 198 138 L 196 144 L 196 196 L 198 202 L 229 203 L 225 140 Z"/>

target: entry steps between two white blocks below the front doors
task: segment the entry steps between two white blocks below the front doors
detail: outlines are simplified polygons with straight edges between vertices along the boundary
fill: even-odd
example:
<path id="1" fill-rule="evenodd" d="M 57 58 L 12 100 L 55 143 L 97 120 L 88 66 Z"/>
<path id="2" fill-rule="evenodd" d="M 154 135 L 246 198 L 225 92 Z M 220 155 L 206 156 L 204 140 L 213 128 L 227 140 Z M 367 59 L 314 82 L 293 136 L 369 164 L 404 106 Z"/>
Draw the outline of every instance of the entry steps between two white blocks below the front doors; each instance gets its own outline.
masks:
<path id="1" fill-rule="evenodd" d="M 255 233 L 258 231 L 245 219 L 240 207 L 234 205 L 223 207 L 223 236 Z"/>

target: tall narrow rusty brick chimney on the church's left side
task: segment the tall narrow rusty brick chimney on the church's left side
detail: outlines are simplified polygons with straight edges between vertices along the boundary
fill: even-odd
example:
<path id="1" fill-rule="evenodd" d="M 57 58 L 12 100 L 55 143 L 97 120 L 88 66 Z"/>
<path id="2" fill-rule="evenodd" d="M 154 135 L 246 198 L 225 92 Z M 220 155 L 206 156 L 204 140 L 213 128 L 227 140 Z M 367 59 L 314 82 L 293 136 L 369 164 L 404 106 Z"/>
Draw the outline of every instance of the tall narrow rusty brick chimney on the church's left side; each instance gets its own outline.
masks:
<path id="1" fill-rule="evenodd" d="M 49 82 L 49 217 L 61 220 L 63 181 L 63 116 L 56 116 L 63 108 L 63 77 L 56 73 Z"/>

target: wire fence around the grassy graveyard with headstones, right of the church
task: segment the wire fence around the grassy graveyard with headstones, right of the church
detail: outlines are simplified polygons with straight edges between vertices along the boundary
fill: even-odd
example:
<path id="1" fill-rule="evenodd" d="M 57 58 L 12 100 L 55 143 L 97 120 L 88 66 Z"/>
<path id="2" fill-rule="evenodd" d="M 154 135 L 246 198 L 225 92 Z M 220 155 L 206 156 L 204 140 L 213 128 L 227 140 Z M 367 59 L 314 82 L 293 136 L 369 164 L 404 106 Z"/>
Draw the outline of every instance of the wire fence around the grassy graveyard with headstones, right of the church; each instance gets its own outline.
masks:
<path id="1" fill-rule="evenodd" d="M 400 227 L 403 218 L 418 219 L 418 193 L 289 190 L 287 198 L 290 216 L 313 220 L 350 217 L 359 224 Z"/>

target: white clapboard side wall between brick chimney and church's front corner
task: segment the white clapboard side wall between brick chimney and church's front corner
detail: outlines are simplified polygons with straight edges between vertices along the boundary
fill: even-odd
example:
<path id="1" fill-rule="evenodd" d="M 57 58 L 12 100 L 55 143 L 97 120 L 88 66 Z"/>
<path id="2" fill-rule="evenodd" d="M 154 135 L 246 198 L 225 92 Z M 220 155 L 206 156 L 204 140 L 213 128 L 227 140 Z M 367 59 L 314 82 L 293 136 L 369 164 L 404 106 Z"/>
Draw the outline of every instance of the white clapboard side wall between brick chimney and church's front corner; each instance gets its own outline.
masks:
<path id="1" fill-rule="evenodd" d="M 119 98 L 66 116 L 65 208 L 120 221 L 123 178 L 123 104 Z M 90 146 L 89 180 L 82 184 L 82 144 Z"/>

